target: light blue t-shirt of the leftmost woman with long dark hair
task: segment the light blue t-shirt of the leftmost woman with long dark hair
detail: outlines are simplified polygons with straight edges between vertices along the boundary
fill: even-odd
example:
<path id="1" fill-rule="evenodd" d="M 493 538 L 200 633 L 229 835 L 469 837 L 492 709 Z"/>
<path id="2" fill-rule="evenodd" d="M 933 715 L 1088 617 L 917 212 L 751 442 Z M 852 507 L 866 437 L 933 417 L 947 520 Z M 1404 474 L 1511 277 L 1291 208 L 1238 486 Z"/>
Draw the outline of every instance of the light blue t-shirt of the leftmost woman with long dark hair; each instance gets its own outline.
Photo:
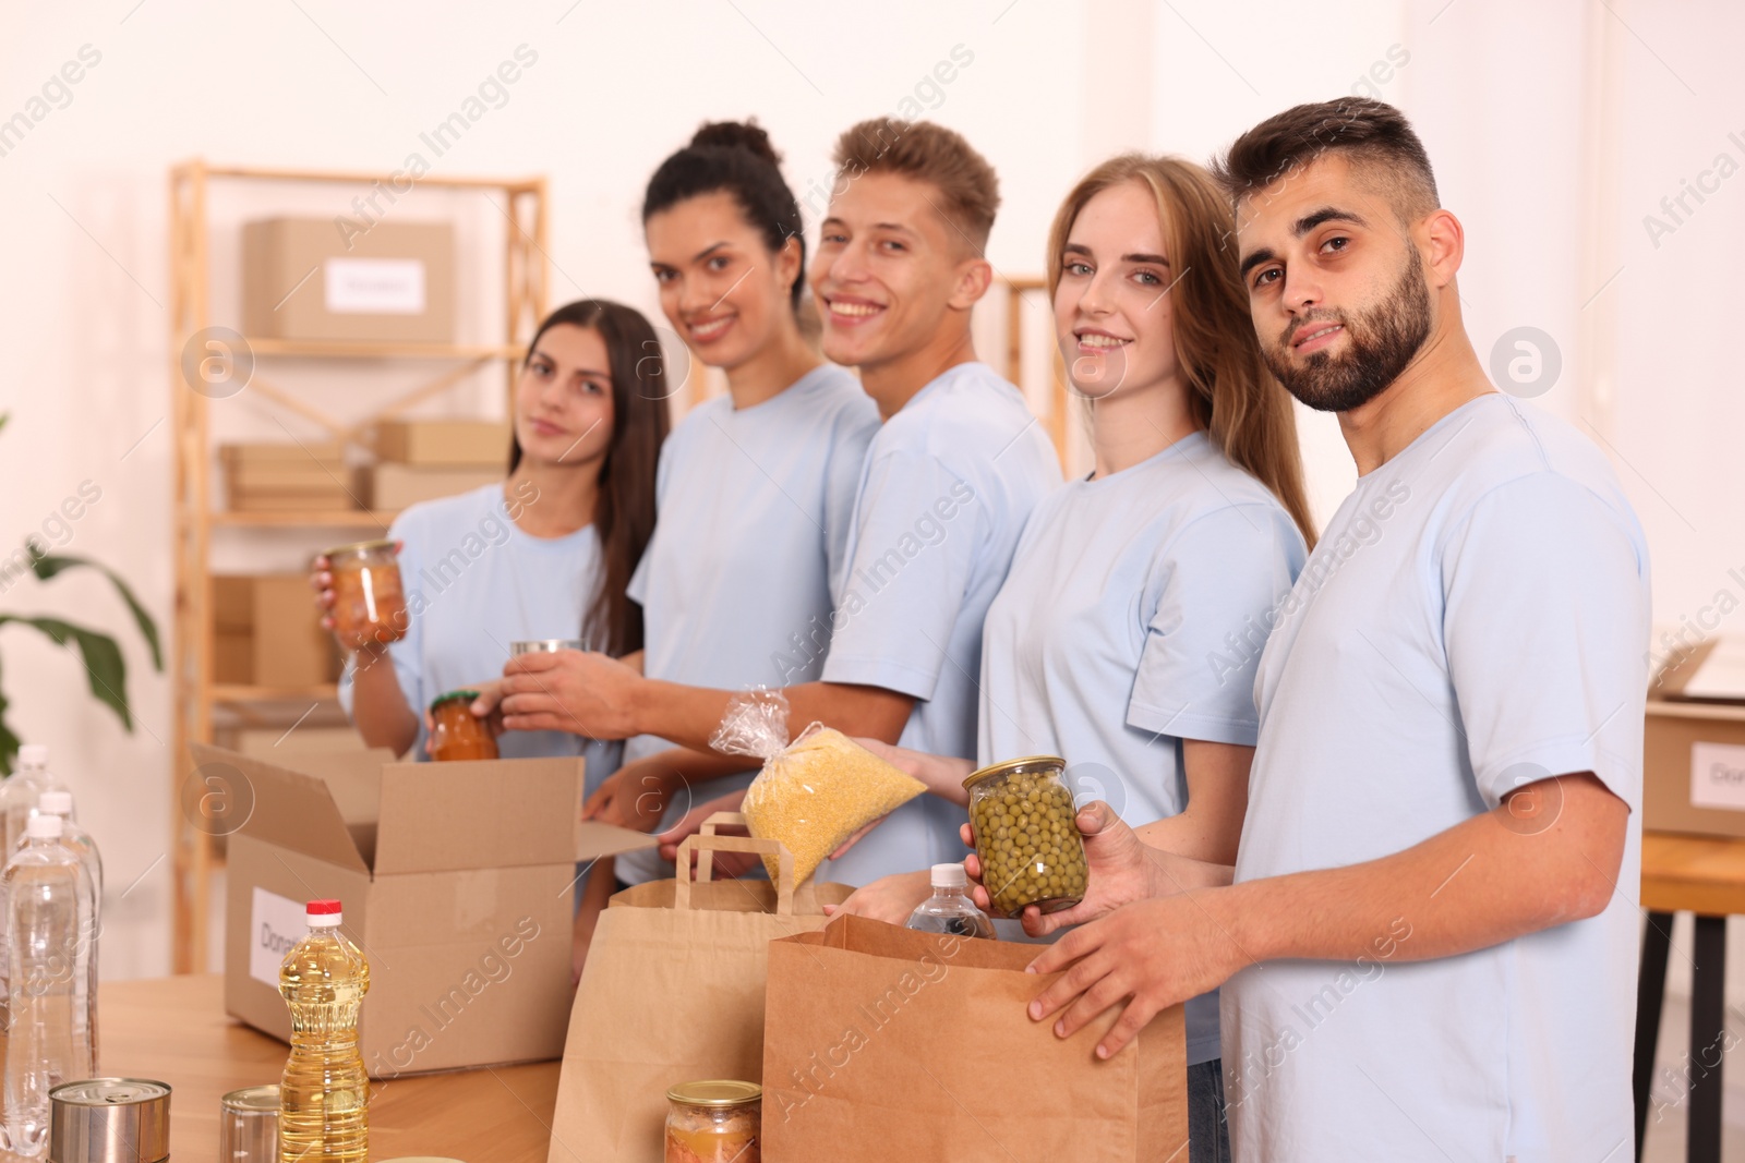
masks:
<path id="1" fill-rule="evenodd" d="M 503 675 L 510 643 L 579 638 L 581 619 L 599 589 L 600 539 L 593 527 L 564 537 L 530 537 L 510 520 L 503 485 L 426 500 L 394 518 L 387 532 L 403 542 L 400 581 L 412 616 L 407 636 L 387 647 L 407 703 L 419 717 L 412 757 L 428 760 L 424 711 L 431 699 Z M 339 697 L 352 708 L 347 663 Z M 565 731 L 504 731 L 504 758 L 581 755 L 586 790 L 618 771 L 623 746 L 583 741 Z"/>

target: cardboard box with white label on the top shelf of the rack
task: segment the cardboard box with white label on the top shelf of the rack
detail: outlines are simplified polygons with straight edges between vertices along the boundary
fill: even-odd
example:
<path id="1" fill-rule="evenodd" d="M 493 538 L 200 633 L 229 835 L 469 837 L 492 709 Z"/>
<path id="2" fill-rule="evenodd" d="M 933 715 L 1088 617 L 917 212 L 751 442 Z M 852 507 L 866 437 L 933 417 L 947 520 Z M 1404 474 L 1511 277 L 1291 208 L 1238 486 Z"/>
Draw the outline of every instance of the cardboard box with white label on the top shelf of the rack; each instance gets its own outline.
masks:
<path id="1" fill-rule="evenodd" d="M 452 343 L 454 227 L 328 218 L 243 227 L 243 328 L 255 338 Z"/>

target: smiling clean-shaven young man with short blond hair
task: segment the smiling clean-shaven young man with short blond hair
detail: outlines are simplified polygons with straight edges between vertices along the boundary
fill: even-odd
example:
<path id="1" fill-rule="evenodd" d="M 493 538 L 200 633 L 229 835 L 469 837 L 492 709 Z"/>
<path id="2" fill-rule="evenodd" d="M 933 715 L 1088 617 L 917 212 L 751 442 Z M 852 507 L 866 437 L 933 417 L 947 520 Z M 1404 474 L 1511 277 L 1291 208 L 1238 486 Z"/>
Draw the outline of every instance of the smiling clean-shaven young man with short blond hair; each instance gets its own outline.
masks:
<path id="1" fill-rule="evenodd" d="M 848 568 L 832 579 L 831 624 L 792 643 L 796 656 L 825 652 L 825 663 L 820 682 L 784 690 L 789 731 L 817 720 L 974 757 L 982 617 L 1031 507 L 1061 481 L 1023 396 L 975 359 L 970 340 L 970 312 L 993 279 L 982 251 L 998 183 L 960 134 L 930 122 L 853 126 L 836 164 L 811 289 L 824 354 L 860 371 L 885 424 L 862 469 Z M 698 748 L 674 755 L 661 792 L 743 765 L 701 752 L 735 692 L 649 680 L 599 654 L 532 659 L 504 671 L 506 727 L 653 734 Z M 932 790 L 818 875 L 864 884 L 960 856 L 963 792 Z"/>

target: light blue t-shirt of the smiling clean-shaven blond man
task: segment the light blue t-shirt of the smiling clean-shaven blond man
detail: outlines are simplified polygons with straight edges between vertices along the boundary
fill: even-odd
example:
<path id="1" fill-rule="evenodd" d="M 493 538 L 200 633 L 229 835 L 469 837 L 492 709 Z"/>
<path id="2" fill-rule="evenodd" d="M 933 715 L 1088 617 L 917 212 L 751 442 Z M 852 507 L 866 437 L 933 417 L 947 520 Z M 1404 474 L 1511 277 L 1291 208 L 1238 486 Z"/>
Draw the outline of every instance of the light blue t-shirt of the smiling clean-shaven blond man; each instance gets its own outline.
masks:
<path id="1" fill-rule="evenodd" d="M 975 755 L 982 621 L 1031 511 L 1061 483 L 1054 445 L 984 363 L 916 392 L 867 450 L 824 682 L 914 696 L 900 746 Z M 867 884 L 961 860 L 963 807 L 920 795 L 820 881 Z"/>

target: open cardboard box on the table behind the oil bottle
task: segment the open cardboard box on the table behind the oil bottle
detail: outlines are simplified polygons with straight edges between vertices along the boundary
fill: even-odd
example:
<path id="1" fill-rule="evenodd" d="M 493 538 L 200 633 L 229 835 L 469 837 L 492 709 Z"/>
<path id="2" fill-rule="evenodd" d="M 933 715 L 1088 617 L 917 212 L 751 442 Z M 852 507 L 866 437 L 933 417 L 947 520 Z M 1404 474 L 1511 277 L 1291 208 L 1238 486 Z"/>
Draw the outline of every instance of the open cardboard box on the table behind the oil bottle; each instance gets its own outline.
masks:
<path id="1" fill-rule="evenodd" d="M 232 1017 L 290 1039 L 279 961 L 307 931 L 304 903 L 333 898 L 370 961 L 372 1078 L 562 1057 L 576 863 L 654 844 L 578 820 L 581 758 L 192 750 L 208 786 L 251 802 L 229 837 Z"/>

